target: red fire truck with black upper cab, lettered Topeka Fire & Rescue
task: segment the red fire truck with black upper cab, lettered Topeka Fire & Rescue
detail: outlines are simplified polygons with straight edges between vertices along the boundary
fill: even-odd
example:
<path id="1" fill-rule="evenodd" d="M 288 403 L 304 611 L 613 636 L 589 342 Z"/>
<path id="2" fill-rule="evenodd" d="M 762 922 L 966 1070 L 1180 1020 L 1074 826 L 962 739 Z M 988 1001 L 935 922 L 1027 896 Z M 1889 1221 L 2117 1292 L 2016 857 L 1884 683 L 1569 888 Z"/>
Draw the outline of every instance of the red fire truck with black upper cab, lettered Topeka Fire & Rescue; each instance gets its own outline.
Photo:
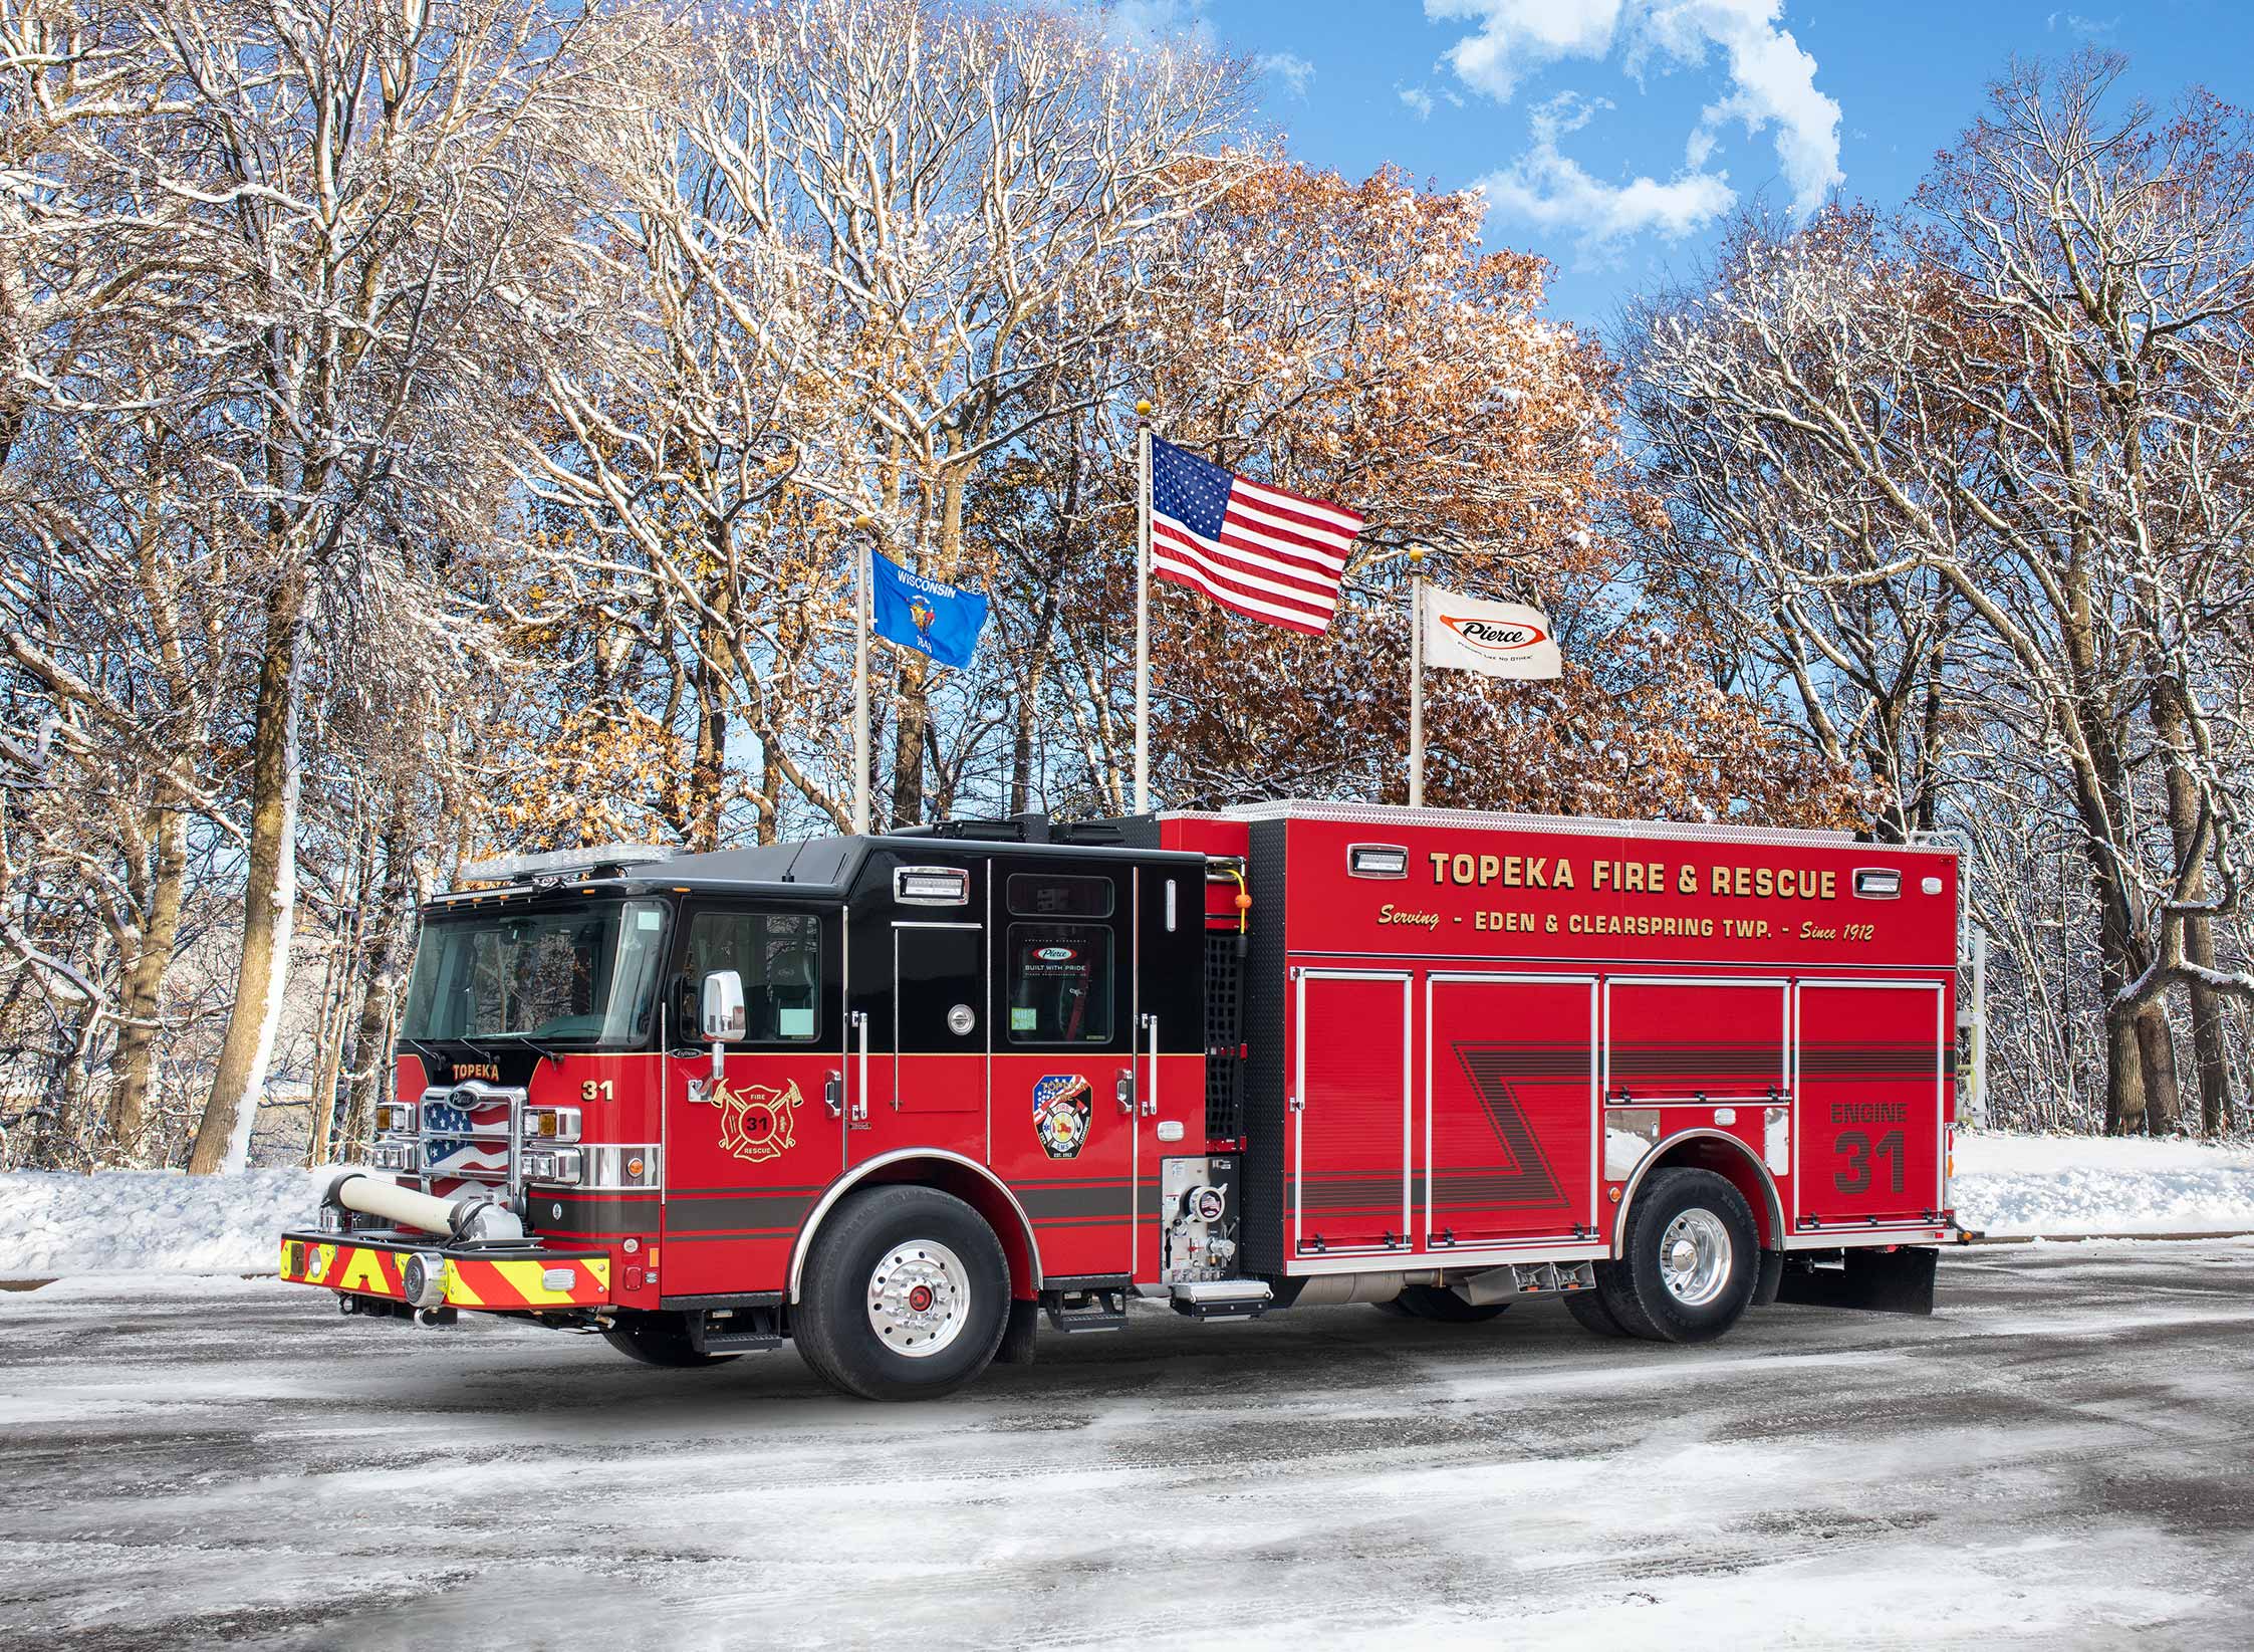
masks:
<path id="1" fill-rule="evenodd" d="M 282 1240 L 347 1314 L 917 1397 L 1132 1296 L 1929 1312 L 1956 1237 L 1938 845 L 1278 802 L 471 879 L 390 1174 Z"/>

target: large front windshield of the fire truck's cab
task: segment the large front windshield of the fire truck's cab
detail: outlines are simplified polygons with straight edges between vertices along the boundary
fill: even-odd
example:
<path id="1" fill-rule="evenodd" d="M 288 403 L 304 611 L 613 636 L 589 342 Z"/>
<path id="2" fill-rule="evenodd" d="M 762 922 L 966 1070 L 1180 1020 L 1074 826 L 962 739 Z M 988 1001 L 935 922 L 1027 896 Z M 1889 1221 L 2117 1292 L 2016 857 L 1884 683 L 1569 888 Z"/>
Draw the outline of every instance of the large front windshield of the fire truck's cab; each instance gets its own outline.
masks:
<path id="1" fill-rule="evenodd" d="M 638 1046 L 665 962 L 660 902 L 577 902 L 424 920 L 406 1039 Z"/>

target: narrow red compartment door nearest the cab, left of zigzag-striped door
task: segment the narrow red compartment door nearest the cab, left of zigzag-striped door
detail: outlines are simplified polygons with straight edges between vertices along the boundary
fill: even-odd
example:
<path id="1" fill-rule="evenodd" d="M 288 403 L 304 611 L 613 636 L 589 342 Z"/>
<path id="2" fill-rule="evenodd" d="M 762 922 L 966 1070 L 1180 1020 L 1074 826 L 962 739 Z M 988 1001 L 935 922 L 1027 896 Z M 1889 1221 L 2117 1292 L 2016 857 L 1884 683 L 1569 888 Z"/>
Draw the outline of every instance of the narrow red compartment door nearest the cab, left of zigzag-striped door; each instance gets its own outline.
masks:
<path id="1" fill-rule="evenodd" d="M 1298 971 L 1296 1255 L 1409 1244 L 1409 976 Z"/>

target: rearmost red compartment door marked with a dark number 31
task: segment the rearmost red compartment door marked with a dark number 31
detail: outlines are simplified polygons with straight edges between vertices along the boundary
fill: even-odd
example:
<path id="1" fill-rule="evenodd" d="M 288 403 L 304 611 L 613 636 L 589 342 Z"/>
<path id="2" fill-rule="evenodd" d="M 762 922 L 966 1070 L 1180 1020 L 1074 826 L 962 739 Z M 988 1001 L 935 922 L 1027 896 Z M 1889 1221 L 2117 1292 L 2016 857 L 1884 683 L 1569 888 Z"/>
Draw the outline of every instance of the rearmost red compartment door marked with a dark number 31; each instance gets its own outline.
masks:
<path id="1" fill-rule="evenodd" d="M 1947 1055 L 1938 983 L 1801 983 L 1799 1215 L 1826 1224 L 1934 1219 Z"/>

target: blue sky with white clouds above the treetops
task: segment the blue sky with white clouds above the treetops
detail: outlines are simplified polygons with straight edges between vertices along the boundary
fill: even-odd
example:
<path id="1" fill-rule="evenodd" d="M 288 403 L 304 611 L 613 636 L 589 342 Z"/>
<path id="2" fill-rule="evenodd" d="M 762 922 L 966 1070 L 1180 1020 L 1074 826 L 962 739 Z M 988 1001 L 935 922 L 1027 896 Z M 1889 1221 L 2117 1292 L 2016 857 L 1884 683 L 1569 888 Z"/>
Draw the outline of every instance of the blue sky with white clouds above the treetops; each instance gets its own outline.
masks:
<path id="1" fill-rule="evenodd" d="M 1553 313 L 1589 327 L 1742 201 L 1900 203 L 2013 54 L 2094 41 L 2155 104 L 2254 101 L 2249 0 L 1120 0 L 1113 23 L 1258 59 L 1305 162 L 1485 183 L 1488 243 L 1548 257 Z"/>

